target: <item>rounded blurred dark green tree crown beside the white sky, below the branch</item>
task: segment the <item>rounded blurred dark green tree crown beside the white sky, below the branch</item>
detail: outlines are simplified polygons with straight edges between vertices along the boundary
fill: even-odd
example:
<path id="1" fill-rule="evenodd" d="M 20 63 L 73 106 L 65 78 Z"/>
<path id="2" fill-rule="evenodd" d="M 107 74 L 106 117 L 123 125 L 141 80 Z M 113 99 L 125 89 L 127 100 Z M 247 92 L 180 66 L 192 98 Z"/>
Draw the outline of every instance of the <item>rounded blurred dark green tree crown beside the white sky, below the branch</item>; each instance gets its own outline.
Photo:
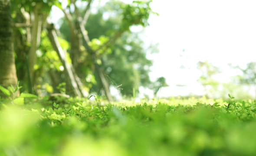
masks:
<path id="1" fill-rule="evenodd" d="M 125 33 L 112 47 L 112 53 L 102 58 L 104 69 L 113 86 L 122 84 L 121 94 L 132 96 L 133 88 L 151 84 L 148 73 L 152 61 L 146 58 L 144 43 L 138 34 Z"/>

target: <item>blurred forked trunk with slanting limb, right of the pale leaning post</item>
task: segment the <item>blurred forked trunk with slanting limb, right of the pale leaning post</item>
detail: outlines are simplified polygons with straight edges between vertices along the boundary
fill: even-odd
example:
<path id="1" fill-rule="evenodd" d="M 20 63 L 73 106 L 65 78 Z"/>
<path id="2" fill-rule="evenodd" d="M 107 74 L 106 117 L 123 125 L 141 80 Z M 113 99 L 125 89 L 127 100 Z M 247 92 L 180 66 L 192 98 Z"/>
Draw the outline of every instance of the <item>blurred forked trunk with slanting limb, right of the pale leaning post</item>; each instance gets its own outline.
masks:
<path id="1" fill-rule="evenodd" d="M 70 46 L 71 46 L 70 58 L 72 60 L 72 65 L 74 67 L 73 68 L 74 73 L 77 73 L 80 77 L 82 76 L 79 73 L 79 68 L 80 68 L 79 64 L 81 63 L 79 57 L 81 56 L 81 53 L 82 53 L 81 47 L 82 47 L 82 43 L 84 41 L 86 51 L 92 57 L 92 62 L 93 62 L 93 65 L 95 66 L 95 71 L 96 71 L 97 75 L 99 76 L 99 79 L 100 79 L 99 83 L 101 84 L 102 89 L 105 92 L 105 96 L 108 98 L 109 101 L 112 101 L 112 96 L 111 96 L 110 90 L 109 90 L 109 83 L 108 83 L 107 79 L 105 78 L 104 71 L 101 70 L 99 65 L 97 65 L 95 63 L 95 53 L 99 49 L 102 49 L 105 45 L 100 47 L 96 51 L 93 50 L 91 48 L 91 46 L 89 46 L 91 41 L 90 41 L 89 36 L 85 30 L 85 25 L 86 25 L 86 22 L 88 20 L 89 14 L 90 14 L 90 7 L 91 7 L 92 0 L 88 1 L 83 18 L 79 15 L 79 11 L 75 5 L 75 1 L 72 0 L 71 3 L 73 3 L 73 5 L 75 7 L 75 11 L 74 11 L 75 16 L 76 16 L 75 22 L 73 22 L 74 18 L 70 12 L 67 12 L 64 9 L 62 9 L 62 11 L 66 16 L 66 20 L 68 21 L 69 29 L 70 29 Z M 112 42 L 112 39 L 109 42 Z"/>

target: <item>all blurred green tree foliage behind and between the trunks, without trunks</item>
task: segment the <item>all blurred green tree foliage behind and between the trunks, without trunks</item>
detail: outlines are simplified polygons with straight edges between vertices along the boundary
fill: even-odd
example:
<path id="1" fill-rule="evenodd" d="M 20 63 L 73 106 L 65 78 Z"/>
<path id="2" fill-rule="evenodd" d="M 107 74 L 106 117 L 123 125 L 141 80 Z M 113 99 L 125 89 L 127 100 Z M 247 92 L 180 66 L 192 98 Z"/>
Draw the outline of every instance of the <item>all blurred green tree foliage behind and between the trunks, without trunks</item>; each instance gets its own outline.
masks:
<path id="1" fill-rule="evenodd" d="M 43 15 L 43 20 L 49 15 L 49 11 L 53 5 L 62 8 L 62 3 L 67 2 L 66 11 L 70 11 L 73 17 L 77 16 L 72 11 L 72 5 L 75 1 L 70 0 L 11 0 L 13 18 L 15 23 L 25 23 L 22 16 L 22 12 L 32 13 L 34 10 L 39 11 Z M 83 1 L 83 0 L 81 0 Z M 79 51 L 79 56 L 75 57 L 75 61 L 72 62 L 76 74 L 82 79 L 86 89 L 92 88 L 92 91 L 97 93 L 101 92 L 101 83 L 99 83 L 99 76 L 95 72 L 95 65 L 101 66 L 100 68 L 105 71 L 109 79 L 109 83 L 123 84 L 125 87 L 122 90 L 122 94 L 132 95 L 132 90 L 135 88 L 138 91 L 139 86 L 147 86 L 151 83 L 148 76 L 149 67 L 152 65 L 151 60 L 146 58 L 146 52 L 151 52 L 152 49 L 144 49 L 143 41 L 138 38 L 138 34 L 133 35 L 129 28 L 130 26 L 148 26 L 149 15 L 154 13 L 149 4 L 151 1 L 134 1 L 131 4 L 125 4 L 118 0 L 109 1 L 106 6 L 97 8 L 96 14 L 91 14 L 85 29 L 91 39 L 89 42 L 90 48 L 95 52 L 89 52 L 85 49 L 86 46 L 79 46 L 75 51 Z M 71 5 L 72 4 L 72 5 Z M 79 6 L 78 6 L 79 7 Z M 23 10 L 24 8 L 24 10 Z M 79 8 L 79 13 L 84 16 L 85 8 Z M 32 15 L 31 14 L 31 15 Z M 103 18 L 104 15 L 108 15 L 108 18 Z M 78 18 L 73 18 L 78 20 Z M 77 22 L 77 21 L 72 21 Z M 30 23 L 32 24 L 32 23 Z M 97 29 L 95 29 L 97 28 Z M 27 27 L 18 27 L 15 29 L 15 46 L 16 52 L 16 65 L 18 78 L 25 86 L 27 83 L 26 56 L 30 49 L 31 43 L 29 41 L 30 32 L 27 32 Z M 74 49 L 71 49 L 70 30 L 67 26 L 67 21 L 64 20 L 60 31 L 64 36 L 64 39 L 59 38 L 59 42 L 64 50 L 66 50 L 68 61 L 69 52 L 71 57 L 73 56 Z M 125 34 L 123 34 L 125 33 Z M 116 34 L 119 34 L 115 36 Z M 136 38 L 136 39 L 135 39 Z M 28 39 L 28 40 L 27 40 Z M 27 41 L 27 42 L 26 42 Z M 117 47 L 117 48 L 116 48 Z M 76 47 L 77 48 L 77 47 Z M 98 50 L 99 49 L 99 50 Z M 69 51 L 70 50 L 70 51 Z M 113 55 L 111 55 L 113 54 Z M 47 39 L 44 30 L 41 34 L 41 42 L 39 51 L 36 52 L 37 60 L 34 65 L 35 71 L 33 72 L 33 89 L 37 94 L 42 92 L 39 89 L 46 88 L 48 92 L 56 91 L 57 84 L 63 82 L 64 74 L 61 62 L 58 55 L 51 47 L 49 40 Z M 114 56 L 114 57 L 113 57 Z M 73 59 L 73 57 L 72 57 Z M 119 60 L 118 60 L 119 59 Z M 111 60 L 108 62 L 108 60 Z M 117 66 L 122 67 L 117 69 Z M 120 72 L 119 72 L 120 71 Z M 111 72 L 111 73 L 110 73 Z M 115 72 L 115 73 L 114 73 Z M 119 73 L 118 73 L 119 72 Z M 49 73 L 48 75 L 46 73 Z M 114 73 L 114 74 L 112 74 Z M 110 75 L 111 74 L 111 75 Z M 114 76 L 114 77 L 112 77 Z M 56 77 L 58 81 L 53 81 L 53 77 Z M 51 83 L 52 81 L 52 83 Z M 98 82 L 96 84 L 96 82 Z M 132 84 L 132 85 L 129 85 Z M 52 86 L 51 86 L 52 85 Z"/>

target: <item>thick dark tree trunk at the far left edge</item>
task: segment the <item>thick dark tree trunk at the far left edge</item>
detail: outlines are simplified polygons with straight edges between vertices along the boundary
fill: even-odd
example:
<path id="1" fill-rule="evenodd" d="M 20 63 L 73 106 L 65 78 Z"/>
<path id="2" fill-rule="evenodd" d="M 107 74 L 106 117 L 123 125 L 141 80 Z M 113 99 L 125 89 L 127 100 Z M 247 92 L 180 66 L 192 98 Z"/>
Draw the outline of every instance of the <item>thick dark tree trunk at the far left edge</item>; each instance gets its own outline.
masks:
<path id="1" fill-rule="evenodd" d="M 0 85 L 3 87 L 17 84 L 12 31 L 10 0 L 0 0 Z"/>

